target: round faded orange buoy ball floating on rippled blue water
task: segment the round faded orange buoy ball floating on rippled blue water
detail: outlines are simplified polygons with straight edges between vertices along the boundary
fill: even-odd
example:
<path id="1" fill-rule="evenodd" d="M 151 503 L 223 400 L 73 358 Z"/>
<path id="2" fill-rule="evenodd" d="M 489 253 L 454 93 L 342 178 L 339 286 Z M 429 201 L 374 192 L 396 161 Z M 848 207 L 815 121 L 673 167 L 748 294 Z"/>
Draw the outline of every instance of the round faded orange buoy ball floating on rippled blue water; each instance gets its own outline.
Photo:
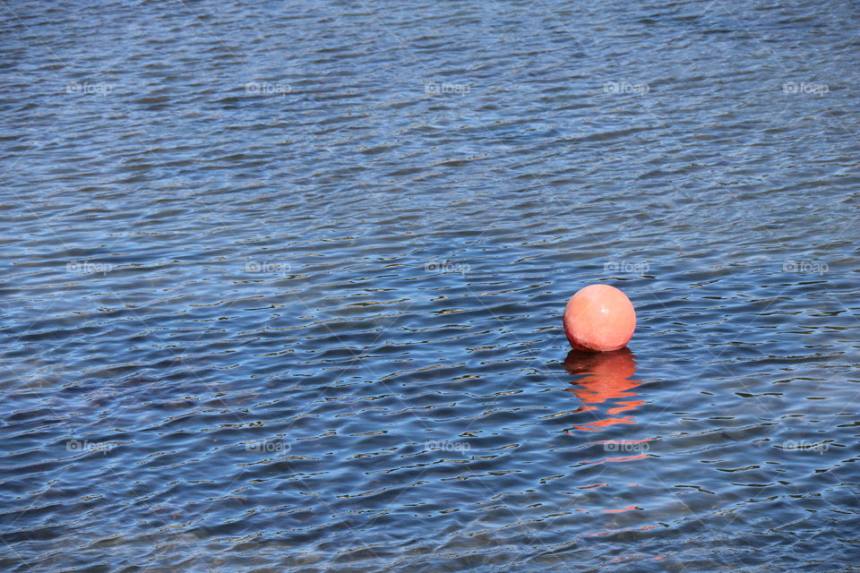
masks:
<path id="1" fill-rule="evenodd" d="M 589 285 L 567 302 L 563 323 L 564 334 L 577 350 L 617 350 L 633 336 L 636 311 L 615 286 Z"/>

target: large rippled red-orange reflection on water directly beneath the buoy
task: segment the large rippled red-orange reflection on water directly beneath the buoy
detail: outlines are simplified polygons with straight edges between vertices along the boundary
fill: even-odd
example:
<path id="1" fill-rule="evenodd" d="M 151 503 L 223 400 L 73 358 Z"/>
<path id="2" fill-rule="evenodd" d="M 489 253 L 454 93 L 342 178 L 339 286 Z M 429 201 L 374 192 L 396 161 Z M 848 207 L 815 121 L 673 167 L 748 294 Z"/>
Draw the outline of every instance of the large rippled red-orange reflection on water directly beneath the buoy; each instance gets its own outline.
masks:
<path id="1" fill-rule="evenodd" d="M 598 411 L 600 407 L 593 406 L 596 404 L 611 404 L 606 408 L 608 417 L 573 426 L 574 430 L 598 432 L 615 423 L 636 423 L 632 415 L 618 416 L 644 403 L 643 400 L 618 399 L 636 396 L 636 392 L 630 390 L 640 384 L 631 380 L 636 374 L 636 360 L 630 348 L 625 346 L 612 352 L 572 350 L 564 359 L 564 367 L 568 372 L 581 376 L 579 380 L 572 381 L 580 388 L 567 390 L 587 405 L 581 406 L 580 412 Z"/>

